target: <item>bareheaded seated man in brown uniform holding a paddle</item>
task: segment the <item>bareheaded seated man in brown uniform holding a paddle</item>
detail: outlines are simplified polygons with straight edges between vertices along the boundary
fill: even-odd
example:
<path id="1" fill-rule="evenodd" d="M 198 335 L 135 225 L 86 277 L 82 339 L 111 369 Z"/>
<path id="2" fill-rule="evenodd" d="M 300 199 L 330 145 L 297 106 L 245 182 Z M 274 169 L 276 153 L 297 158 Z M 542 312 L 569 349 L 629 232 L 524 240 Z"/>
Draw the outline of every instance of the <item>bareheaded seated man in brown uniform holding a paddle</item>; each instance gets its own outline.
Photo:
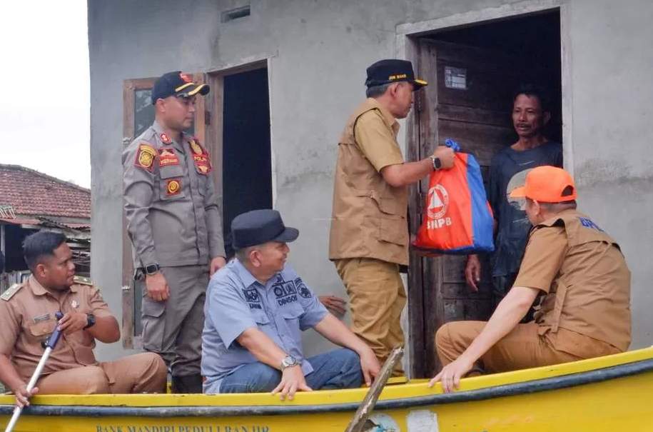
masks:
<path id="1" fill-rule="evenodd" d="M 0 381 L 16 395 L 16 404 L 41 394 L 163 392 L 166 365 L 155 353 L 141 353 L 118 361 L 98 363 L 95 340 L 120 339 L 118 321 L 111 316 L 97 288 L 78 278 L 66 237 L 41 231 L 25 238 L 23 252 L 32 276 L 0 298 Z M 56 327 L 63 335 L 46 362 L 36 388 L 26 383 L 36 369 L 41 345 Z"/>

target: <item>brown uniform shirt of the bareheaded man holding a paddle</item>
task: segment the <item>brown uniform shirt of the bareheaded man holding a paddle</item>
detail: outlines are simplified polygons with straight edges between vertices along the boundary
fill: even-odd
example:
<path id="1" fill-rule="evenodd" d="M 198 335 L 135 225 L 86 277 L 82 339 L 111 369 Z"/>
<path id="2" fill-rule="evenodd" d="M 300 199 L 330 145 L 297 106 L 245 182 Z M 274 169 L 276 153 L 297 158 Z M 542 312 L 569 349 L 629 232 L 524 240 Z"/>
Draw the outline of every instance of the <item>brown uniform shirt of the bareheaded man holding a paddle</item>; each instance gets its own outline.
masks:
<path id="1" fill-rule="evenodd" d="M 58 311 L 93 313 L 96 317 L 111 316 L 100 291 L 82 283 L 75 283 L 69 291 L 63 291 L 56 298 L 34 276 L 30 276 L 21 286 L 9 288 L 1 296 L 0 353 L 9 356 L 25 382 L 29 381 L 43 356 L 45 348 L 41 343 L 54 331 L 54 314 Z M 87 331 L 61 335 L 42 375 L 97 365 L 93 348 L 95 338 Z"/>

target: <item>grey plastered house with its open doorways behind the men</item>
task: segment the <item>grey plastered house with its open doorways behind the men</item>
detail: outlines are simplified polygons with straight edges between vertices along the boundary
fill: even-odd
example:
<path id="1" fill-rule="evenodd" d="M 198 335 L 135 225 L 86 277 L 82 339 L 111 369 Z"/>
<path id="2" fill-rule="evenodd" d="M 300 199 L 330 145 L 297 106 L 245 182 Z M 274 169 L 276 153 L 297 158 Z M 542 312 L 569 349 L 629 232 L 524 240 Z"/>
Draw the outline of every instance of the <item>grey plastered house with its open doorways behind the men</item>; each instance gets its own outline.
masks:
<path id="1" fill-rule="evenodd" d="M 540 30 L 553 31 L 555 37 L 535 37 L 532 43 L 542 44 L 542 53 L 554 48 L 538 67 L 548 74 L 557 94 L 554 134 L 562 139 L 565 168 L 577 181 L 580 208 L 622 246 L 632 270 L 632 347 L 650 345 L 651 16 L 653 4 L 646 0 L 89 0 L 91 276 L 113 311 L 123 314 L 123 336 L 126 328 L 130 333 L 125 349 L 137 346 L 131 336 L 137 331 L 133 321 L 138 294 L 131 286 L 129 245 L 123 236 L 121 152 L 151 121 L 147 91 L 153 79 L 183 70 L 211 84 L 211 94 L 198 104 L 195 133 L 211 150 L 214 179 L 226 207 L 240 205 L 232 181 L 238 173 L 223 175 L 242 156 L 238 149 L 265 144 L 268 171 L 237 169 L 244 173 L 238 186 L 269 184 L 270 202 L 288 225 L 300 230 L 291 246 L 293 266 L 318 293 L 343 296 L 328 261 L 333 171 L 345 120 L 364 98 L 365 68 L 378 59 L 410 59 L 418 74 L 431 82 L 413 113 L 401 122 L 399 139 L 407 159 L 424 157 L 436 142 L 452 137 L 463 147 L 473 144 L 478 159 L 487 165 L 497 146 L 510 144 L 510 125 L 500 115 L 506 94 L 496 90 L 502 77 L 507 80 L 520 64 L 508 56 L 499 64 L 503 54 L 491 53 L 517 46 L 521 31 L 532 22 L 520 20 L 538 17 L 555 23 L 538 21 Z M 525 25 L 519 27 L 520 22 Z M 486 31 L 482 26 L 501 36 L 476 37 Z M 511 33 L 517 28 L 522 30 Z M 510 55 L 525 56 L 527 48 Z M 260 79 L 245 75 L 261 70 L 265 74 Z M 516 79 L 520 74 L 527 72 Z M 247 79 L 238 84 L 238 76 Z M 248 80 L 262 83 L 254 94 Z M 229 146 L 240 142 L 238 124 L 246 126 L 250 116 L 238 116 L 241 123 L 232 121 L 233 112 L 243 109 L 239 95 L 253 97 L 256 103 L 250 107 L 265 105 L 268 119 L 265 127 L 249 128 L 267 128 L 265 134 L 243 140 L 234 150 Z M 502 103 L 495 104 L 501 98 Z M 453 109 L 456 104 L 462 109 Z M 456 114 L 463 111 L 473 120 Z M 487 115 L 477 116 L 480 112 Z M 485 141 L 494 147 L 483 146 Z M 250 195 L 247 190 L 241 191 L 241 198 Z M 421 192 L 412 189 L 413 233 Z M 411 256 L 405 331 L 416 375 L 435 367 L 430 353 L 433 322 L 485 313 L 486 299 L 461 285 L 461 265 L 454 258 Z M 315 353 L 326 343 L 310 334 L 305 346 Z M 99 352 L 106 358 L 121 354 L 105 347 Z M 428 367 L 420 366 L 425 362 Z"/>

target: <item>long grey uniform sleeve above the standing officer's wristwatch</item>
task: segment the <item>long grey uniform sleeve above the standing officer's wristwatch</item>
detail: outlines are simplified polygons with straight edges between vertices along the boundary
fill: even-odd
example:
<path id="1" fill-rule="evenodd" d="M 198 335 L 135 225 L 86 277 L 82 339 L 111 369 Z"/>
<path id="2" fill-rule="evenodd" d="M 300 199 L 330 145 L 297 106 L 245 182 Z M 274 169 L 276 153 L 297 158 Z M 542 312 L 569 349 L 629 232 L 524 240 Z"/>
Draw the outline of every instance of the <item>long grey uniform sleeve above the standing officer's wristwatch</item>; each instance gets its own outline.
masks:
<path id="1" fill-rule="evenodd" d="M 154 196 L 154 176 L 134 165 L 138 142 L 134 141 L 123 152 L 123 196 L 127 231 L 141 266 L 156 263 L 152 227 L 148 221 Z"/>

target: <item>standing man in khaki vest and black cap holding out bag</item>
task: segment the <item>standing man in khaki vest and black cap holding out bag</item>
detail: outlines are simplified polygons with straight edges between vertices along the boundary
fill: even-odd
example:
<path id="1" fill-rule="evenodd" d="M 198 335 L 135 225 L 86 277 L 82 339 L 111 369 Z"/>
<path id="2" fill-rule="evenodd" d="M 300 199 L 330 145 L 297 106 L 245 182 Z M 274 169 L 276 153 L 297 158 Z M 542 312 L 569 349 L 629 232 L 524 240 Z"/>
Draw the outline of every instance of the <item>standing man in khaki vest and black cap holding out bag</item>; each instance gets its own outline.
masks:
<path id="1" fill-rule="evenodd" d="M 408 265 L 408 185 L 435 169 L 453 166 L 451 149 L 405 162 L 397 143 L 397 119 L 408 116 L 415 79 L 410 61 L 377 61 L 367 70 L 366 99 L 340 136 L 335 166 L 329 258 L 350 298 L 353 332 L 379 361 L 403 344 L 406 303 L 399 266 Z M 395 375 L 403 373 L 401 366 Z"/>

